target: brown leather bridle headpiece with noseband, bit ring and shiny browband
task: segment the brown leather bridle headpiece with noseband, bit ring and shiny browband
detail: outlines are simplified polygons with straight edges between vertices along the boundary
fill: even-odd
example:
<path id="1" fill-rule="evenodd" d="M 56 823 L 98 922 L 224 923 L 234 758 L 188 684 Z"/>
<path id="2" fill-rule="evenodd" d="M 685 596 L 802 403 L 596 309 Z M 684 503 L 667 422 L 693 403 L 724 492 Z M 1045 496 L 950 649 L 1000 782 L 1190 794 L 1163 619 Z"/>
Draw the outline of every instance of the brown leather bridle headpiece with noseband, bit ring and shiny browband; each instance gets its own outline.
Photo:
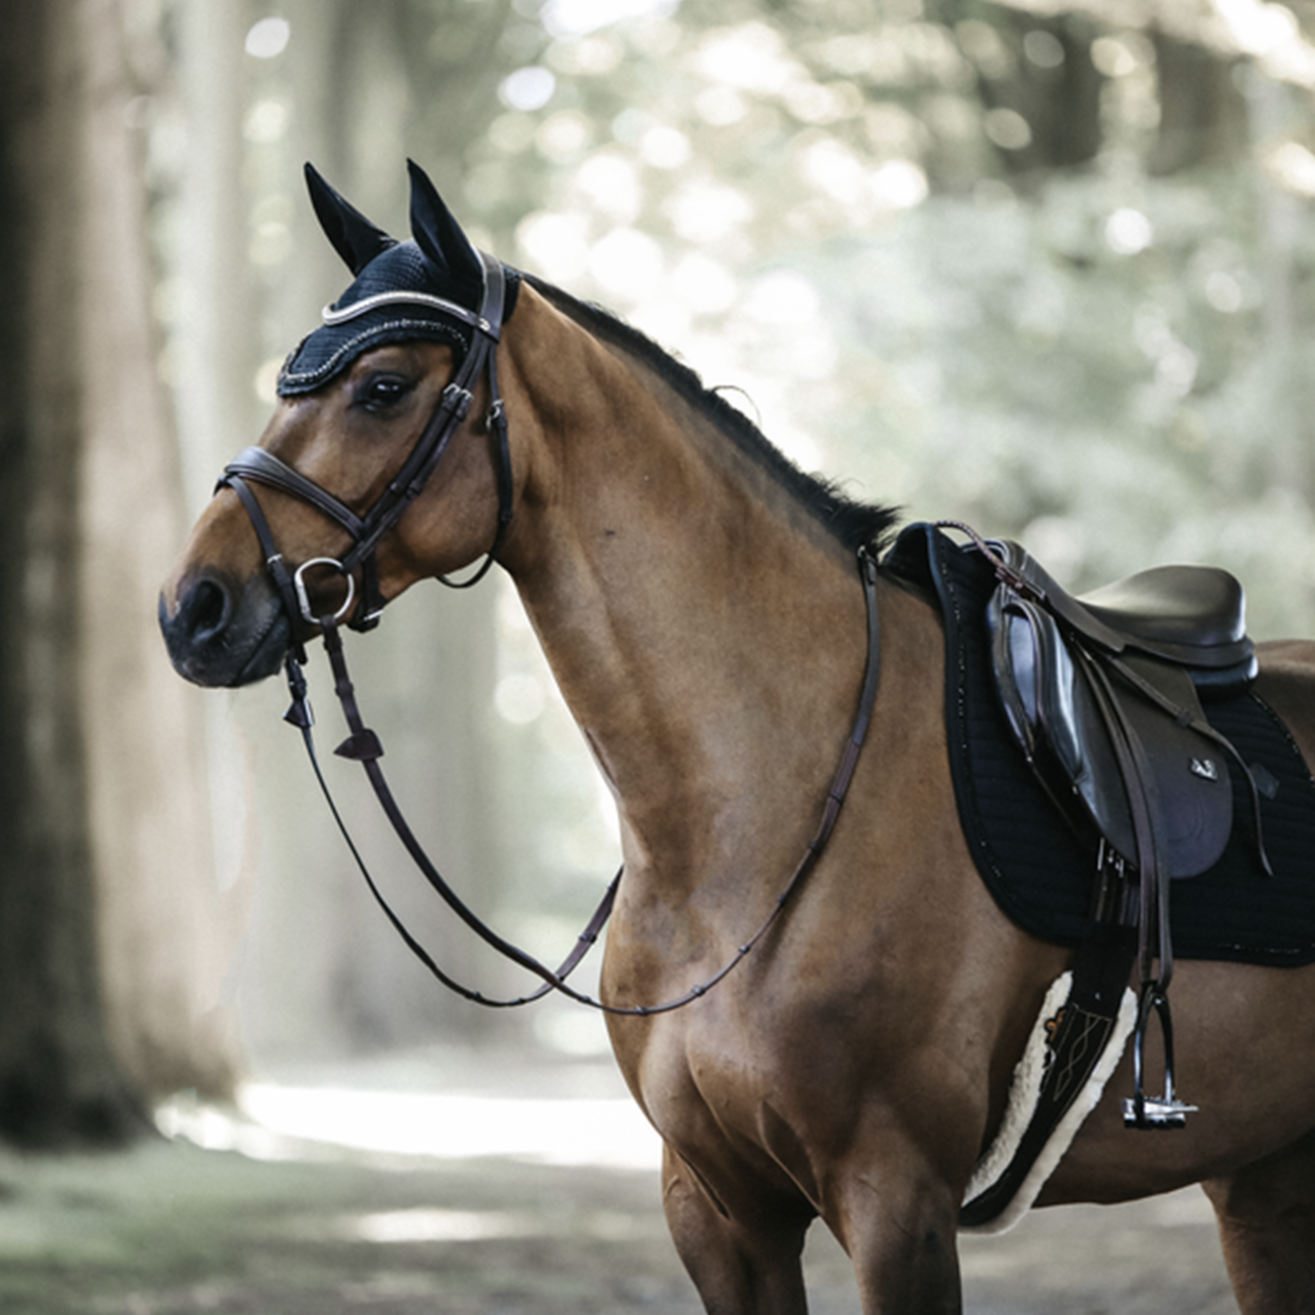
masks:
<path id="1" fill-rule="evenodd" d="M 379 305 L 398 301 L 419 301 L 430 309 L 441 309 L 454 320 L 468 325 L 473 334 L 471 347 L 466 354 L 452 381 L 443 389 L 438 406 L 425 426 L 423 433 L 412 448 L 410 455 L 402 463 L 401 469 L 388 483 L 388 487 L 379 494 L 373 506 L 363 514 L 352 512 L 350 506 L 334 497 L 327 489 L 321 488 L 314 480 L 306 479 L 300 471 L 293 469 L 280 462 L 272 452 L 263 447 L 243 448 L 234 460 L 224 468 L 224 476 L 218 488 L 231 488 L 242 500 L 256 538 L 260 540 L 260 551 L 264 554 L 266 568 L 279 590 L 284 610 L 293 631 L 293 647 L 297 648 L 299 658 L 304 661 L 304 651 L 296 639 L 297 621 L 304 619 L 308 625 L 316 626 L 322 619 L 316 615 L 310 606 L 305 573 L 312 567 L 325 567 L 339 571 L 347 580 L 347 601 L 338 609 L 334 621 L 347 619 L 347 625 L 354 630 L 372 630 L 379 625 L 380 613 L 384 610 L 384 597 L 379 586 L 377 550 L 384 535 L 392 530 L 402 518 L 406 509 L 423 492 L 430 476 L 443 459 L 452 435 L 458 426 L 466 419 L 475 400 L 475 388 L 481 373 L 487 373 L 489 384 L 489 412 L 488 425 L 494 443 L 494 468 L 497 472 L 498 514 L 497 529 L 493 534 L 493 543 L 484 558 L 483 564 L 467 580 L 454 583 L 446 577 L 439 577 L 443 584 L 454 589 L 467 589 L 484 579 L 493 564 L 502 540 L 506 538 L 508 526 L 512 523 L 512 452 L 508 443 L 506 414 L 502 406 L 502 396 L 497 383 L 497 345 L 502 335 L 502 314 L 506 304 L 506 272 L 500 260 L 480 252 L 484 263 L 484 301 L 479 312 L 472 312 L 455 302 L 444 301 L 427 293 L 391 292 L 368 297 L 364 301 L 348 306 L 346 310 L 327 310 L 325 318 L 341 322 L 355 314 L 364 314 Z M 302 562 L 296 572 L 288 571 L 283 554 L 279 551 L 270 530 L 270 523 L 260 509 L 255 494 L 250 489 L 250 483 L 264 484 L 270 488 L 291 493 L 293 497 L 309 502 L 317 512 L 339 525 L 352 539 L 352 547 L 341 560 L 337 558 L 312 558 Z M 360 571 L 360 601 L 356 602 L 355 573 Z"/>

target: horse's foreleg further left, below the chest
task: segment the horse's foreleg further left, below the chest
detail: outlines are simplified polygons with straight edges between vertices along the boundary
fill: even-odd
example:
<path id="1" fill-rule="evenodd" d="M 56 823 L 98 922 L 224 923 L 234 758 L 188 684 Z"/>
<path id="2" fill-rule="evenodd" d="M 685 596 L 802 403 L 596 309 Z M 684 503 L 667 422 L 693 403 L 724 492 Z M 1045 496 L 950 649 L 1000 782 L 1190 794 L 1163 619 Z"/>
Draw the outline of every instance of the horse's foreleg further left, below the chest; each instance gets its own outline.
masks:
<path id="1" fill-rule="evenodd" d="M 805 1315 L 805 1215 L 773 1212 L 765 1201 L 751 1216 L 732 1214 L 669 1148 L 663 1156 L 663 1206 L 709 1315 Z"/>

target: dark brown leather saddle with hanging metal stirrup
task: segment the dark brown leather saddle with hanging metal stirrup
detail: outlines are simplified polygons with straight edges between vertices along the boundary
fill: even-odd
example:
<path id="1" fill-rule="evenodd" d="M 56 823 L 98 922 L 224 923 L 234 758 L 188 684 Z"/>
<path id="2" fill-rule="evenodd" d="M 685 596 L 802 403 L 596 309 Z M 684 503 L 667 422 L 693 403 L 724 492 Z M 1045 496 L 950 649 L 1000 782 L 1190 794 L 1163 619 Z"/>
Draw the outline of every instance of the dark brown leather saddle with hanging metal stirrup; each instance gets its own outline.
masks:
<path id="1" fill-rule="evenodd" d="M 1169 889 L 1206 872 L 1233 827 L 1230 772 L 1257 784 L 1207 721 L 1202 700 L 1243 693 L 1256 676 L 1241 585 L 1215 567 L 1156 567 L 1082 597 L 1019 544 L 973 539 L 997 586 L 988 605 L 992 677 L 1036 778 L 1098 853 L 1097 920 L 1135 927 L 1141 1005 L 1135 1094 L 1126 1122 L 1182 1127 L 1173 1093 Z M 1165 1094 L 1143 1089 L 1152 1014 L 1165 1040 Z"/>

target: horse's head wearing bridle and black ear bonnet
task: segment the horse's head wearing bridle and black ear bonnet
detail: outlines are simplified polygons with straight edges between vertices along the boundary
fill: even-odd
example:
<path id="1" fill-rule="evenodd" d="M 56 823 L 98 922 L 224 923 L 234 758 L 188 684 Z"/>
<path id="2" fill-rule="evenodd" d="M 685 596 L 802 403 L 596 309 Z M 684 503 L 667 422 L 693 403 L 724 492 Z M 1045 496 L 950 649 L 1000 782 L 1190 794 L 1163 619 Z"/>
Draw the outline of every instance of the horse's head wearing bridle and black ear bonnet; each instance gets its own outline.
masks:
<path id="1" fill-rule="evenodd" d="M 414 164 L 408 242 L 306 179 L 355 281 L 284 363 L 259 447 L 226 468 L 160 596 L 170 658 L 201 685 L 272 675 L 321 615 L 371 625 L 416 580 L 496 551 L 510 519 L 494 359 L 514 272 Z"/>

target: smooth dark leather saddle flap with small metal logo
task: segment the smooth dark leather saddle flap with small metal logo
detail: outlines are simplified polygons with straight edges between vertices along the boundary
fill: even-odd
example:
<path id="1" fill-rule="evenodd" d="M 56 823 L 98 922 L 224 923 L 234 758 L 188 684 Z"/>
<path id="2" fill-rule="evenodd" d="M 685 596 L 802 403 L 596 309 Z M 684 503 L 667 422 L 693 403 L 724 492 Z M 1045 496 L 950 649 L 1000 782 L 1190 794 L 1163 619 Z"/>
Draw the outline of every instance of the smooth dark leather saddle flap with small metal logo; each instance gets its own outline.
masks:
<path id="1" fill-rule="evenodd" d="M 1232 830 L 1228 764 L 1218 746 L 1165 705 L 1199 715 L 1190 676 L 1141 655 L 1120 661 L 1159 692 L 1153 702 L 1118 665 L 1076 643 L 1056 618 L 1009 585 L 988 606 L 992 675 L 1005 718 L 1038 780 L 1080 834 L 1139 861 L 1130 790 L 1151 819 L 1165 876 L 1195 876 L 1223 853 Z M 1109 661 L 1109 659 L 1105 659 Z M 1131 778 L 1130 778 L 1131 777 Z"/>

